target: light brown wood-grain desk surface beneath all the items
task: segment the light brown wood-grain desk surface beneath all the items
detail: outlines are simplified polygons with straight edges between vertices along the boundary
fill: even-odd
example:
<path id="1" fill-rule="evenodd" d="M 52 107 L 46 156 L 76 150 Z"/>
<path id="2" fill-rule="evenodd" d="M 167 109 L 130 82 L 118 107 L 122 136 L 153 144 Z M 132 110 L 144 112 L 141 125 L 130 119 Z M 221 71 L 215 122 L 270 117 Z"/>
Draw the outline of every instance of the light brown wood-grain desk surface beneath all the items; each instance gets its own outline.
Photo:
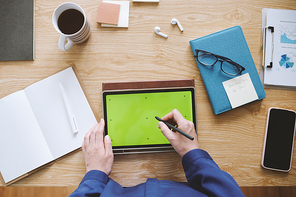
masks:
<path id="1" fill-rule="evenodd" d="M 76 65 L 95 113 L 102 117 L 102 82 L 195 79 L 200 147 L 240 186 L 295 186 L 296 146 L 289 173 L 260 166 L 267 110 L 296 110 L 296 91 L 266 89 L 266 98 L 221 115 L 213 114 L 189 41 L 235 25 L 244 31 L 257 70 L 260 68 L 261 10 L 296 9 L 294 0 L 160 0 L 130 2 L 128 29 L 101 28 L 96 21 L 98 1 L 73 0 L 86 12 L 90 39 L 70 51 L 58 48 L 59 35 L 51 17 L 62 0 L 35 1 L 34 61 L 0 62 L 0 98 Z M 170 24 L 177 18 L 184 28 Z M 154 33 L 169 35 L 164 39 Z M 13 186 L 77 186 L 85 174 L 82 151 L 76 151 Z M 133 186 L 146 178 L 186 181 L 176 153 L 115 156 L 111 178 Z M 3 182 L 0 184 L 3 185 Z"/>

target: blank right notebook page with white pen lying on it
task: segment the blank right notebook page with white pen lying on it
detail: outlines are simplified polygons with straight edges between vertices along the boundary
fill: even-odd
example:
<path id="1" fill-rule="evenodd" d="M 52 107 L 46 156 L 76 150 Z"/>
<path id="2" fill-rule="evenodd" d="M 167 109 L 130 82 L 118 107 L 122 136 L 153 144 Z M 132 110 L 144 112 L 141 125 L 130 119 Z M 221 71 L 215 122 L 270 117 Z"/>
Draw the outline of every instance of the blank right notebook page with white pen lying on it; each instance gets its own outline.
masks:
<path id="1" fill-rule="evenodd" d="M 72 132 L 59 82 L 78 125 Z M 97 123 L 72 67 L 25 89 L 27 98 L 54 158 L 81 147 L 84 135 Z"/>

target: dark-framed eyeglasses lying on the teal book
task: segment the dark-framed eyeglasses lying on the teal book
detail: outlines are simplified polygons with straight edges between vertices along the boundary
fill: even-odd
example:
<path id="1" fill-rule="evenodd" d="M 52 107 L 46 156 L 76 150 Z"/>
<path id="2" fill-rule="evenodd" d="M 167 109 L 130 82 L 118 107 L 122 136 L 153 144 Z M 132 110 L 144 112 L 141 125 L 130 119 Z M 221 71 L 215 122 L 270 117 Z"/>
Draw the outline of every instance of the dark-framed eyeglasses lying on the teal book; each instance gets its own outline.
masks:
<path id="1" fill-rule="evenodd" d="M 198 49 L 195 49 L 195 53 L 196 60 L 204 66 L 214 66 L 218 61 L 221 62 L 221 70 L 228 75 L 236 76 L 245 70 L 244 67 L 227 57 Z"/>

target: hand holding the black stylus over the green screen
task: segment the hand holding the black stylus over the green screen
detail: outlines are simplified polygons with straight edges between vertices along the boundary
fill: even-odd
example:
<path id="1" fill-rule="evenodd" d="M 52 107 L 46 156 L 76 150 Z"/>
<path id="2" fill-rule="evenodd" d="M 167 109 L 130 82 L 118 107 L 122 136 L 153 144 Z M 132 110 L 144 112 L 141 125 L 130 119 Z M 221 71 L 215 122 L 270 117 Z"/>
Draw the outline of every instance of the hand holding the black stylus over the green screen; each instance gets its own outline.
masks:
<path id="1" fill-rule="evenodd" d="M 161 119 L 171 123 L 172 125 L 178 125 L 177 127 L 179 129 L 194 137 L 194 140 L 190 140 L 178 132 L 171 131 L 163 122 L 158 123 L 158 127 L 161 129 L 163 135 L 169 140 L 171 145 L 181 157 L 183 157 L 187 152 L 199 148 L 194 124 L 186 120 L 177 109 L 174 109 Z"/>

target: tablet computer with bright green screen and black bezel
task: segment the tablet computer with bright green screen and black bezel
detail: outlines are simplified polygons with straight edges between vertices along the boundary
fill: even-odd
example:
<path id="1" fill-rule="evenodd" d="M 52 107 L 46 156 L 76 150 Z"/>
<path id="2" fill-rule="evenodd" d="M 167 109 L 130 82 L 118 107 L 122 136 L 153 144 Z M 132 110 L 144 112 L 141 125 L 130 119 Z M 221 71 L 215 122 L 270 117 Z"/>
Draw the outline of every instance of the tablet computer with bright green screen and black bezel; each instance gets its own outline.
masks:
<path id="1" fill-rule="evenodd" d="M 155 116 L 163 117 L 173 109 L 196 125 L 195 89 L 104 91 L 105 134 L 111 138 L 113 151 L 171 147 Z"/>

